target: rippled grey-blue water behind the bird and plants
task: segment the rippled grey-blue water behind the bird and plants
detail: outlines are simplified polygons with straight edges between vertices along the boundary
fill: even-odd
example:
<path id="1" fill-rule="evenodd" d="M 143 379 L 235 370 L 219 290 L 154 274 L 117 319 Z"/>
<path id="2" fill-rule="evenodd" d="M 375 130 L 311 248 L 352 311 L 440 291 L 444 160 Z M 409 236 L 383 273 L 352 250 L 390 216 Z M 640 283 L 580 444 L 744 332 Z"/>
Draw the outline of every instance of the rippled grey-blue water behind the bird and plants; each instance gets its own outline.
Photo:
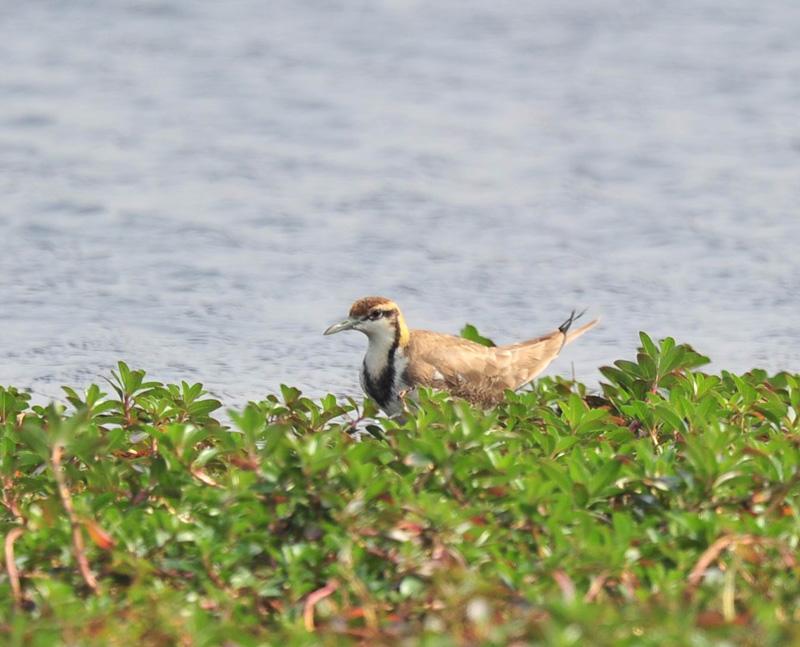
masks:
<path id="1" fill-rule="evenodd" d="M 550 373 L 800 367 L 793 0 L 0 5 L 0 384 L 359 394 L 357 297 Z"/>

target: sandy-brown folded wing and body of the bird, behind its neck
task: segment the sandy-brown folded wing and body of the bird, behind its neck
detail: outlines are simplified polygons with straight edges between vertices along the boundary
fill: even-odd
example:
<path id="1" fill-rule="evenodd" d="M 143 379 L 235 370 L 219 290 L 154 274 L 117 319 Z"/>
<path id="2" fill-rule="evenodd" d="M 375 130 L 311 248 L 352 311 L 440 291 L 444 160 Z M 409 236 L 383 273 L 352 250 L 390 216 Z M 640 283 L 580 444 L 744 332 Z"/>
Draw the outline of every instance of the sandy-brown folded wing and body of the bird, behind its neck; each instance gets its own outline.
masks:
<path id="1" fill-rule="evenodd" d="M 475 342 L 426 330 L 412 330 L 407 377 L 412 384 L 447 390 L 476 404 L 491 405 L 530 382 L 552 362 L 564 344 L 594 326 L 597 320 L 565 335 L 555 330 L 511 346 L 489 348 Z"/>

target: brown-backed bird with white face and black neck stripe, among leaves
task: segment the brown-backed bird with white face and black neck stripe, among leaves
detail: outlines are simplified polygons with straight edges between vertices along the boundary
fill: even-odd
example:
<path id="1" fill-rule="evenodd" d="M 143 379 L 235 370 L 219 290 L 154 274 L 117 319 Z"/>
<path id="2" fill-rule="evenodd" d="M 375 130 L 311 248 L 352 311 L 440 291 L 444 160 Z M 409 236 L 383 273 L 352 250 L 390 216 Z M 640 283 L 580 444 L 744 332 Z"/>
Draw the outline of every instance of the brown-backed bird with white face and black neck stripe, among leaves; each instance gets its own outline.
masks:
<path id="1" fill-rule="evenodd" d="M 581 315 L 573 311 L 556 330 L 536 339 L 489 347 L 455 335 L 410 330 L 394 301 L 364 297 L 353 303 L 346 319 L 323 334 L 358 330 L 367 336 L 361 388 L 388 416 L 396 417 L 403 413 L 403 395 L 417 386 L 447 391 L 483 408 L 497 405 L 506 390 L 516 391 L 530 382 L 564 345 L 599 321 L 570 332 Z"/>

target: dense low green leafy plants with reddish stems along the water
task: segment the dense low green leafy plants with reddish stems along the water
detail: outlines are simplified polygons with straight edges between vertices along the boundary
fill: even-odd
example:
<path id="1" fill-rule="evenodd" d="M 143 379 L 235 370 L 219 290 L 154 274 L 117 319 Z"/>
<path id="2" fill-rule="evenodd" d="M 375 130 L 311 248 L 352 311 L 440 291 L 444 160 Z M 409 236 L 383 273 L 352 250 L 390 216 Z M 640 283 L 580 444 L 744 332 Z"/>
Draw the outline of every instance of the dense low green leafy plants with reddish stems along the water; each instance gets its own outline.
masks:
<path id="1" fill-rule="evenodd" d="M 800 376 L 642 335 L 602 393 L 210 416 L 120 363 L 0 389 L 10 646 L 800 644 Z M 360 441 L 348 432 L 366 430 Z"/>

